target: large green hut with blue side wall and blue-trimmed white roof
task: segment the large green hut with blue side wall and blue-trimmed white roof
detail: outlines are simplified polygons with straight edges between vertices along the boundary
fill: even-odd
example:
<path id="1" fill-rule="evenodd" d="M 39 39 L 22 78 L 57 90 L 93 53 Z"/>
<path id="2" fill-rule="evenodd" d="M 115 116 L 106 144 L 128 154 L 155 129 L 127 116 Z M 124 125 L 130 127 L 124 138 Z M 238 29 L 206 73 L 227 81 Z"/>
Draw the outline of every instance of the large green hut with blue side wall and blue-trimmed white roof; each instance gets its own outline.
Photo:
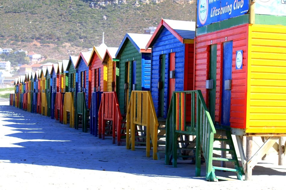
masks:
<path id="1" fill-rule="evenodd" d="M 150 90 L 152 35 L 126 33 L 115 56 L 119 59 L 119 106 L 126 113 L 132 90 Z"/>

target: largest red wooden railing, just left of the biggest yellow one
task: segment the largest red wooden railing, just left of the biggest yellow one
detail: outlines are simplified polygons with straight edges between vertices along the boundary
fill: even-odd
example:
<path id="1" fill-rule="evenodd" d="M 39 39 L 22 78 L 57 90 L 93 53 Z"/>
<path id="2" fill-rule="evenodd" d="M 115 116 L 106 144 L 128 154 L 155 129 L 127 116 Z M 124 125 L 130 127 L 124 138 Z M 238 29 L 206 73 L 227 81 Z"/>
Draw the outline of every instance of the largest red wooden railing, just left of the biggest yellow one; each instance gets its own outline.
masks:
<path id="1" fill-rule="evenodd" d="M 112 143 L 115 144 L 117 134 L 117 145 L 120 146 L 121 140 L 121 121 L 119 103 L 116 92 L 103 92 L 99 111 L 98 111 L 98 135 L 104 139 L 106 121 L 112 121 Z"/>

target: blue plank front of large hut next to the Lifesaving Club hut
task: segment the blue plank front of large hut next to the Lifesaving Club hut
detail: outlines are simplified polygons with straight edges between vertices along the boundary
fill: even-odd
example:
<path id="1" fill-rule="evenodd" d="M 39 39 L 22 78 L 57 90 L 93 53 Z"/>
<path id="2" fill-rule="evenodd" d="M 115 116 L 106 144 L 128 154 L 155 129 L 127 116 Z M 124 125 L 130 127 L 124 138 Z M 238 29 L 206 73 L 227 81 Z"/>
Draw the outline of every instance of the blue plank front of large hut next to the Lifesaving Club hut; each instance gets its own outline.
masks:
<path id="1" fill-rule="evenodd" d="M 165 67 L 165 88 L 164 88 L 164 118 L 167 117 L 169 107 L 169 54 L 175 54 L 175 91 L 184 90 L 185 72 L 185 44 L 182 44 L 168 29 L 163 27 L 158 37 L 152 42 L 152 64 L 151 64 L 151 95 L 154 102 L 155 111 L 159 115 L 159 89 L 158 81 L 160 77 L 160 55 L 166 55 Z M 190 58 L 192 59 L 192 58 Z M 193 59 L 192 59 L 193 65 Z"/>

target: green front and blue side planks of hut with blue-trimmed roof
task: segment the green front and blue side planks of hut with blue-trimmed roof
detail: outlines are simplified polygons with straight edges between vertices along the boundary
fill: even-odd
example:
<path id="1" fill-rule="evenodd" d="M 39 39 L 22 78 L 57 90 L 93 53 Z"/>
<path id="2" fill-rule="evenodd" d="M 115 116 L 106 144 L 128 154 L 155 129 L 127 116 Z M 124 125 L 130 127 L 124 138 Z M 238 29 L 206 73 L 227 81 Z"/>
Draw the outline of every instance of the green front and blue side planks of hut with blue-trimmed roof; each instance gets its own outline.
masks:
<path id="1" fill-rule="evenodd" d="M 135 90 L 149 90 L 146 89 L 146 86 L 142 87 L 142 75 L 144 76 L 145 71 L 142 70 L 142 57 L 143 54 L 145 59 L 148 60 L 148 54 L 150 53 L 139 53 L 138 50 L 134 47 L 134 45 L 131 43 L 131 41 L 127 38 L 125 44 L 122 47 L 121 53 L 118 54 L 118 57 L 120 57 L 120 65 L 119 65 L 119 107 L 121 113 L 124 113 L 124 83 L 125 83 L 125 63 L 129 62 L 130 69 L 129 69 L 129 98 L 132 91 L 132 61 L 136 61 L 136 87 Z M 146 62 L 147 63 L 147 62 Z M 147 71 L 148 71 L 148 65 L 145 65 Z M 145 83 L 148 84 L 148 81 L 150 81 L 150 78 L 148 76 L 144 77 Z M 129 99 L 128 98 L 128 99 Z"/>

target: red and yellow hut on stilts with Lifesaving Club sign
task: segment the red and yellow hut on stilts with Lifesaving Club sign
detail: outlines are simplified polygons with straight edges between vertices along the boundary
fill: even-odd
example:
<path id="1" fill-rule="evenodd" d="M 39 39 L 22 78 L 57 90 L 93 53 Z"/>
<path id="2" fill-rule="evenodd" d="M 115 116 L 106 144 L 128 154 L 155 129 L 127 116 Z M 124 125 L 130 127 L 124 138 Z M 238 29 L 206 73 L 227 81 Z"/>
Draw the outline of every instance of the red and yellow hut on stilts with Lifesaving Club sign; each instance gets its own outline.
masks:
<path id="1" fill-rule="evenodd" d="M 228 126 L 236 135 L 247 180 L 269 147 L 285 142 L 286 13 L 278 9 L 283 6 L 197 1 L 194 89 L 201 90 L 214 125 Z M 268 139 L 254 154 L 253 136 Z M 281 161 L 284 153 L 278 154 Z"/>

